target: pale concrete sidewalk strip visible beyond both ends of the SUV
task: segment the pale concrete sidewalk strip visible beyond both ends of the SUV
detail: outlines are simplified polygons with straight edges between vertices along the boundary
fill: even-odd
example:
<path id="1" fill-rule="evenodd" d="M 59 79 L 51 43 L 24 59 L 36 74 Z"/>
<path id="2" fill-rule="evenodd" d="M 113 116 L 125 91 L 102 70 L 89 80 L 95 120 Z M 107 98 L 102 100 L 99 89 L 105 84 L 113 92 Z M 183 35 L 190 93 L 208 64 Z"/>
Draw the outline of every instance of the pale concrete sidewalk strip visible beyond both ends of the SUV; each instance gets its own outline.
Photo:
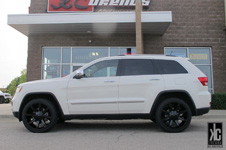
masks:
<path id="1" fill-rule="evenodd" d="M 14 118 L 11 111 L 11 104 L 0 104 L 0 118 Z M 210 110 L 208 114 L 193 117 L 193 119 L 224 119 L 226 120 L 226 110 Z"/>

